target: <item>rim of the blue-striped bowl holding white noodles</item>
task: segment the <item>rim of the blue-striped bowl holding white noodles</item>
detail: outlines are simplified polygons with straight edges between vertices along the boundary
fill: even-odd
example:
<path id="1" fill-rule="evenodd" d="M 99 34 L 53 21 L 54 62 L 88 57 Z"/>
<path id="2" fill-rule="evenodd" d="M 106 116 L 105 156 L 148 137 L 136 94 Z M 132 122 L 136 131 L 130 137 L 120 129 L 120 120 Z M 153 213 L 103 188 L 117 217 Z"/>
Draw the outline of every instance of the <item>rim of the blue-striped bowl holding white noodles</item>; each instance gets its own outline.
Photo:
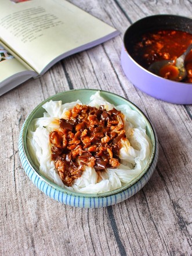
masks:
<path id="1" fill-rule="evenodd" d="M 61 95 L 64 94 L 68 94 L 68 93 L 73 93 L 74 91 L 90 91 L 90 92 L 97 92 L 100 91 L 104 94 L 110 94 L 112 95 L 112 97 L 117 97 L 119 99 L 123 99 L 124 101 L 128 102 L 129 106 L 131 105 L 133 107 L 133 109 L 136 109 L 137 112 L 139 112 L 143 118 L 146 121 L 146 126 L 148 128 L 150 128 L 150 136 L 151 136 L 151 154 L 150 154 L 150 158 L 148 159 L 148 162 L 146 163 L 146 166 L 144 166 L 142 172 L 139 173 L 139 175 L 137 175 L 133 180 L 131 180 L 131 182 L 125 184 L 124 186 L 119 187 L 118 189 L 115 190 L 111 190 L 111 191 L 107 191 L 104 193 L 81 193 L 81 192 L 76 192 L 76 191 L 71 191 L 69 189 L 60 187 L 59 185 L 57 185 L 55 182 L 52 182 L 52 180 L 48 179 L 48 177 L 44 176 L 44 174 L 42 174 L 38 168 L 35 166 L 34 161 L 32 161 L 30 154 L 28 152 L 27 149 L 27 131 L 28 131 L 28 127 L 30 125 L 30 122 L 34 119 L 33 116 L 35 114 L 35 112 L 42 107 L 42 105 L 44 105 L 46 102 L 54 99 L 54 98 L 58 98 Z M 58 99 L 56 99 L 58 100 Z M 111 196 L 111 195 L 115 195 L 118 193 L 122 193 L 122 191 L 125 191 L 126 189 L 129 189 L 129 187 L 133 186 L 135 183 L 139 182 L 140 179 L 142 179 L 142 177 L 144 176 L 145 173 L 147 173 L 148 169 L 150 168 L 150 166 L 153 164 L 154 158 L 155 158 L 155 154 L 157 151 L 157 143 L 158 143 L 158 139 L 157 139 L 157 135 L 155 134 L 155 130 L 153 125 L 151 124 L 150 120 L 147 118 L 147 116 L 143 113 L 143 111 L 136 106 L 135 104 L 133 104 L 133 102 L 129 101 L 128 99 L 108 92 L 108 91 L 104 91 L 104 90 L 97 90 L 97 89 L 74 89 L 74 90 L 68 90 L 68 91 L 64 91 L 62 93 L 57 93 L 55 95 L 52 95 L 50 97 L 48 97 L 47 99 L 45 99 L 44 101 L 42 101 L 40 104 L 38 104 L 31 112 L 30 114 L 27 116 L 24 124 L 23 124 L 23 131 L 22 131 L 22 147 L 23 147 L 23 152 L 24 155 L 27 159 L 28 165 L 30 165 L 31 169 L 35 172 L 35 174 L 42 180 L 44 180 L 45 183 L 47 183 L 49 186 L 51 186 L 53 189 L 56 189 L 57 191 L 61 191 L 62 193 L 68 194 L 68 195 L 74 195 L 74 196 L 78 196 L 78 197 L 84 197 L 84 198 L 94 198 L 94 197 L 107 197 L 107 196 Z"/>

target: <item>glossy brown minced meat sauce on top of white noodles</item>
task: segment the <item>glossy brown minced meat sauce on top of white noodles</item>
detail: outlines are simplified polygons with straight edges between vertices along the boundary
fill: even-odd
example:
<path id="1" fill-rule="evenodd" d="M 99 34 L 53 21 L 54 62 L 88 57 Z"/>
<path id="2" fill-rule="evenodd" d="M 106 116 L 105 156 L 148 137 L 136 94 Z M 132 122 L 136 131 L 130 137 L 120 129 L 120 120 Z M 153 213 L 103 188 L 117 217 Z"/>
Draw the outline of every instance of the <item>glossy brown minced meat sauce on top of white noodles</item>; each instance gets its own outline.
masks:
<path id="1" fill-rule="evenodd" d="M 107 111 L 77 104 L 59 120 L 59 129 L 50 133 L 52 160 L 63 183 L 71 186 L 81 177 L 84 165 L 95 170 L 117 168 L 121 138 L 125 138 L 124 116 L 113 108 Z"/>

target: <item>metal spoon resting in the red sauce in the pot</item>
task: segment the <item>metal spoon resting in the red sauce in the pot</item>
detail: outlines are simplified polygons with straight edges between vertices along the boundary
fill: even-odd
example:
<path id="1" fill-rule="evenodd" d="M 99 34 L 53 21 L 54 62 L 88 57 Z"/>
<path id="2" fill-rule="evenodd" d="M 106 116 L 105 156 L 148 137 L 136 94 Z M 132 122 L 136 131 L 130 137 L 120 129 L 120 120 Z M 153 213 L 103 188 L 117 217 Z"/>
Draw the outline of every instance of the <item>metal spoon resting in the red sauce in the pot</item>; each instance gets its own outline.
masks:
<path id="1" fill-rule="evenodd" d="M 183 80 L 186 76 L 187 76 L 187 72 L 186 69 L 184 67 L 184 59 L 186 58 L 186 55 L 189 54 L 189 52 L 192 49 L 192 44 L 189 45 L 189 47 L 187 47 L 186 51 L 180 55 L 179 58 L 177 58 L 174 61 L 157 61 L 154 62 L 150 65 L 150 67 L 148 67 L 148 71 L 160 75 L 160 70 L 163 67 L 169 67 L 175 66 L 175 69 L 177 69 L 177 74 L 175 77 L 170 78 L 171 80 L 175 80 L 175 81 L 181 81 Z"/>

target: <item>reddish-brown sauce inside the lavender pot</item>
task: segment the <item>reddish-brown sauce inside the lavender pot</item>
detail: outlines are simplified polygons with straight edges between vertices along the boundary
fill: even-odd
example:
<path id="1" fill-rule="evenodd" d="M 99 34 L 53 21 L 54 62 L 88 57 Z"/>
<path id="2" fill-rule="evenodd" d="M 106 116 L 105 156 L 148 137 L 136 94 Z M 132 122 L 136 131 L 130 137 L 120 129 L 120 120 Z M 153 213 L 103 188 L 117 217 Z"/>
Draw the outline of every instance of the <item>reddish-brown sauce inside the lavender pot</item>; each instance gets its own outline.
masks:
<path id="1" fill-rule="evenodd" d="M 176 30 L 150 31 L 132 42 L 130 54 L 139 65 L 148 67 L 162 60 L 175 60 L 192 43 L 192 34 Z M 192 50 L 186 56 L 187 77 L 185 83 L 192 83 Z M 169 69 L 170 68 L 170 69 Z M 166 70 L 167 69 L 167 70 Z M 169 69 L 169 70 L 168 70 Z M 176 67 L 166 67 L 160 76 L 172 79 L 177 75 Z"/>

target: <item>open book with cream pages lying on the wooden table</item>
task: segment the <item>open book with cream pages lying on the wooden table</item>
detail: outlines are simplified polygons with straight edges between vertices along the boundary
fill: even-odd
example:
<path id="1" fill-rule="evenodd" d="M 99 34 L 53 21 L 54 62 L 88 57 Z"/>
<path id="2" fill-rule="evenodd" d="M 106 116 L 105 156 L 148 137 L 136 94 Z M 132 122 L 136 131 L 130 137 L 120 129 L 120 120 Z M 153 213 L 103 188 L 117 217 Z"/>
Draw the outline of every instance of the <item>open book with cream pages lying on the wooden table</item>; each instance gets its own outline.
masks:
<path id="1" fill-rule="evenodd" d="M 0 0 L 0 95 L 117 30 L 65 0 Z"/>

